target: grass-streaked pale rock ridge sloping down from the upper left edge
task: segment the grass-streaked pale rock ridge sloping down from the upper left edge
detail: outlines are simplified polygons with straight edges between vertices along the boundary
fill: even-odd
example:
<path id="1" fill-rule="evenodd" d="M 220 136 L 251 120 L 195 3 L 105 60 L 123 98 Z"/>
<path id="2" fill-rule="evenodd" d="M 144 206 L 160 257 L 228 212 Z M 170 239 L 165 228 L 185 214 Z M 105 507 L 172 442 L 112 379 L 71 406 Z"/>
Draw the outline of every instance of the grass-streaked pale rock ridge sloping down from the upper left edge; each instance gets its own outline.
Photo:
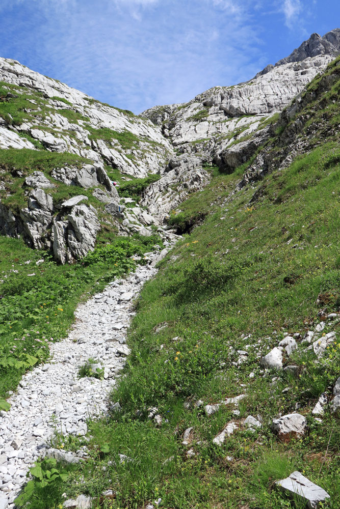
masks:
<path id="1" fill-rule="evenodd" d="M 24 115 L 1 119 L 0 148 L 34 149 L 21 137 L 27 134 L 48 151 L 77 154 L 135 177 L 158 172 L 172 153 L 161 129 L 145 118 L 100 103 L 16 60 L 0 58 L 0 80 L 8 83 L 3 100 L 13 93 L 30 96 Z"/>

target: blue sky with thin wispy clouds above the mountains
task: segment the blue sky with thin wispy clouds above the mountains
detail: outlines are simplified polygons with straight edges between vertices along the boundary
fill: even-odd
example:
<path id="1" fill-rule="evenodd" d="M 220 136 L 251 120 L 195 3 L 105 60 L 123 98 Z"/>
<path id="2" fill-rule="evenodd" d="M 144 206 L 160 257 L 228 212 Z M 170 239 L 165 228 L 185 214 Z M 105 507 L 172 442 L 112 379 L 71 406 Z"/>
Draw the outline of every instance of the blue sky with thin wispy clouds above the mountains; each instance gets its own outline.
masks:
<path id="1" fill-rule="evenodd" d="M 250 79 L 339 0 L 0 0 L 0 56 L 139 113 Z"/>

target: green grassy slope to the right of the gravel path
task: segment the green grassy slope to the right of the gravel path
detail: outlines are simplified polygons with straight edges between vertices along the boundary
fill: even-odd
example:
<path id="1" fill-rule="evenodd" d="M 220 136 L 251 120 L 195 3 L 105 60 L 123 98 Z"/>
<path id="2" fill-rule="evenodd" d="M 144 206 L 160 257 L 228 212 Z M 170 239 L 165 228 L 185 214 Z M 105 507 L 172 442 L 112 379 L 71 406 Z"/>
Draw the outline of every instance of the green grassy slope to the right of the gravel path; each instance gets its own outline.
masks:
<path id="1" fill-rule="evenodd" d="M 132 354 L 112 393 L 121 412 L 90 422 L 90 458 L 68 473 L 69 496 L 86 492 L 94 507 L 114 509 L 159 498 L 165 508 L 281 509 L 291 502 L 273 482 L 300 470 L 328 491 L 327 507 L 339 506 L 340 423 L 328 410 L 321 425 L 311 415 L 340 375 L 338 345 L 319 362 L 303 349 L 285 358 L 299 366 L 297 379 L 259 365 L 284 331 L 303 334 L 319 323 L 321 306 L 324 313 L 340 306 L 339 156 L 335 144 L 319 147 L 236 194 L 237 176 L 215 176 L 181 206 L 184 216 L 208 215 L 142 291 Z M 254 191 L 261 197 L 250 205 Z M 240 364 L 238 350 L 248 353 Z M 212 416 L 194 405 L 241 393 L 239 415 L 233 405 Z M 153 407 L 160 427 L 148 417 Z M 308 433 L 282 443 L 270 423 L 297 409 Z M 260 416 L 261 429 L 242 426 L 249 414 Z M 231 419 L 240 429 L 214 444 Z M 76 450 L 80 440 L 59 436 L 56 443 Z M 109 488 L 114 497 L 103 500 Z"/>

